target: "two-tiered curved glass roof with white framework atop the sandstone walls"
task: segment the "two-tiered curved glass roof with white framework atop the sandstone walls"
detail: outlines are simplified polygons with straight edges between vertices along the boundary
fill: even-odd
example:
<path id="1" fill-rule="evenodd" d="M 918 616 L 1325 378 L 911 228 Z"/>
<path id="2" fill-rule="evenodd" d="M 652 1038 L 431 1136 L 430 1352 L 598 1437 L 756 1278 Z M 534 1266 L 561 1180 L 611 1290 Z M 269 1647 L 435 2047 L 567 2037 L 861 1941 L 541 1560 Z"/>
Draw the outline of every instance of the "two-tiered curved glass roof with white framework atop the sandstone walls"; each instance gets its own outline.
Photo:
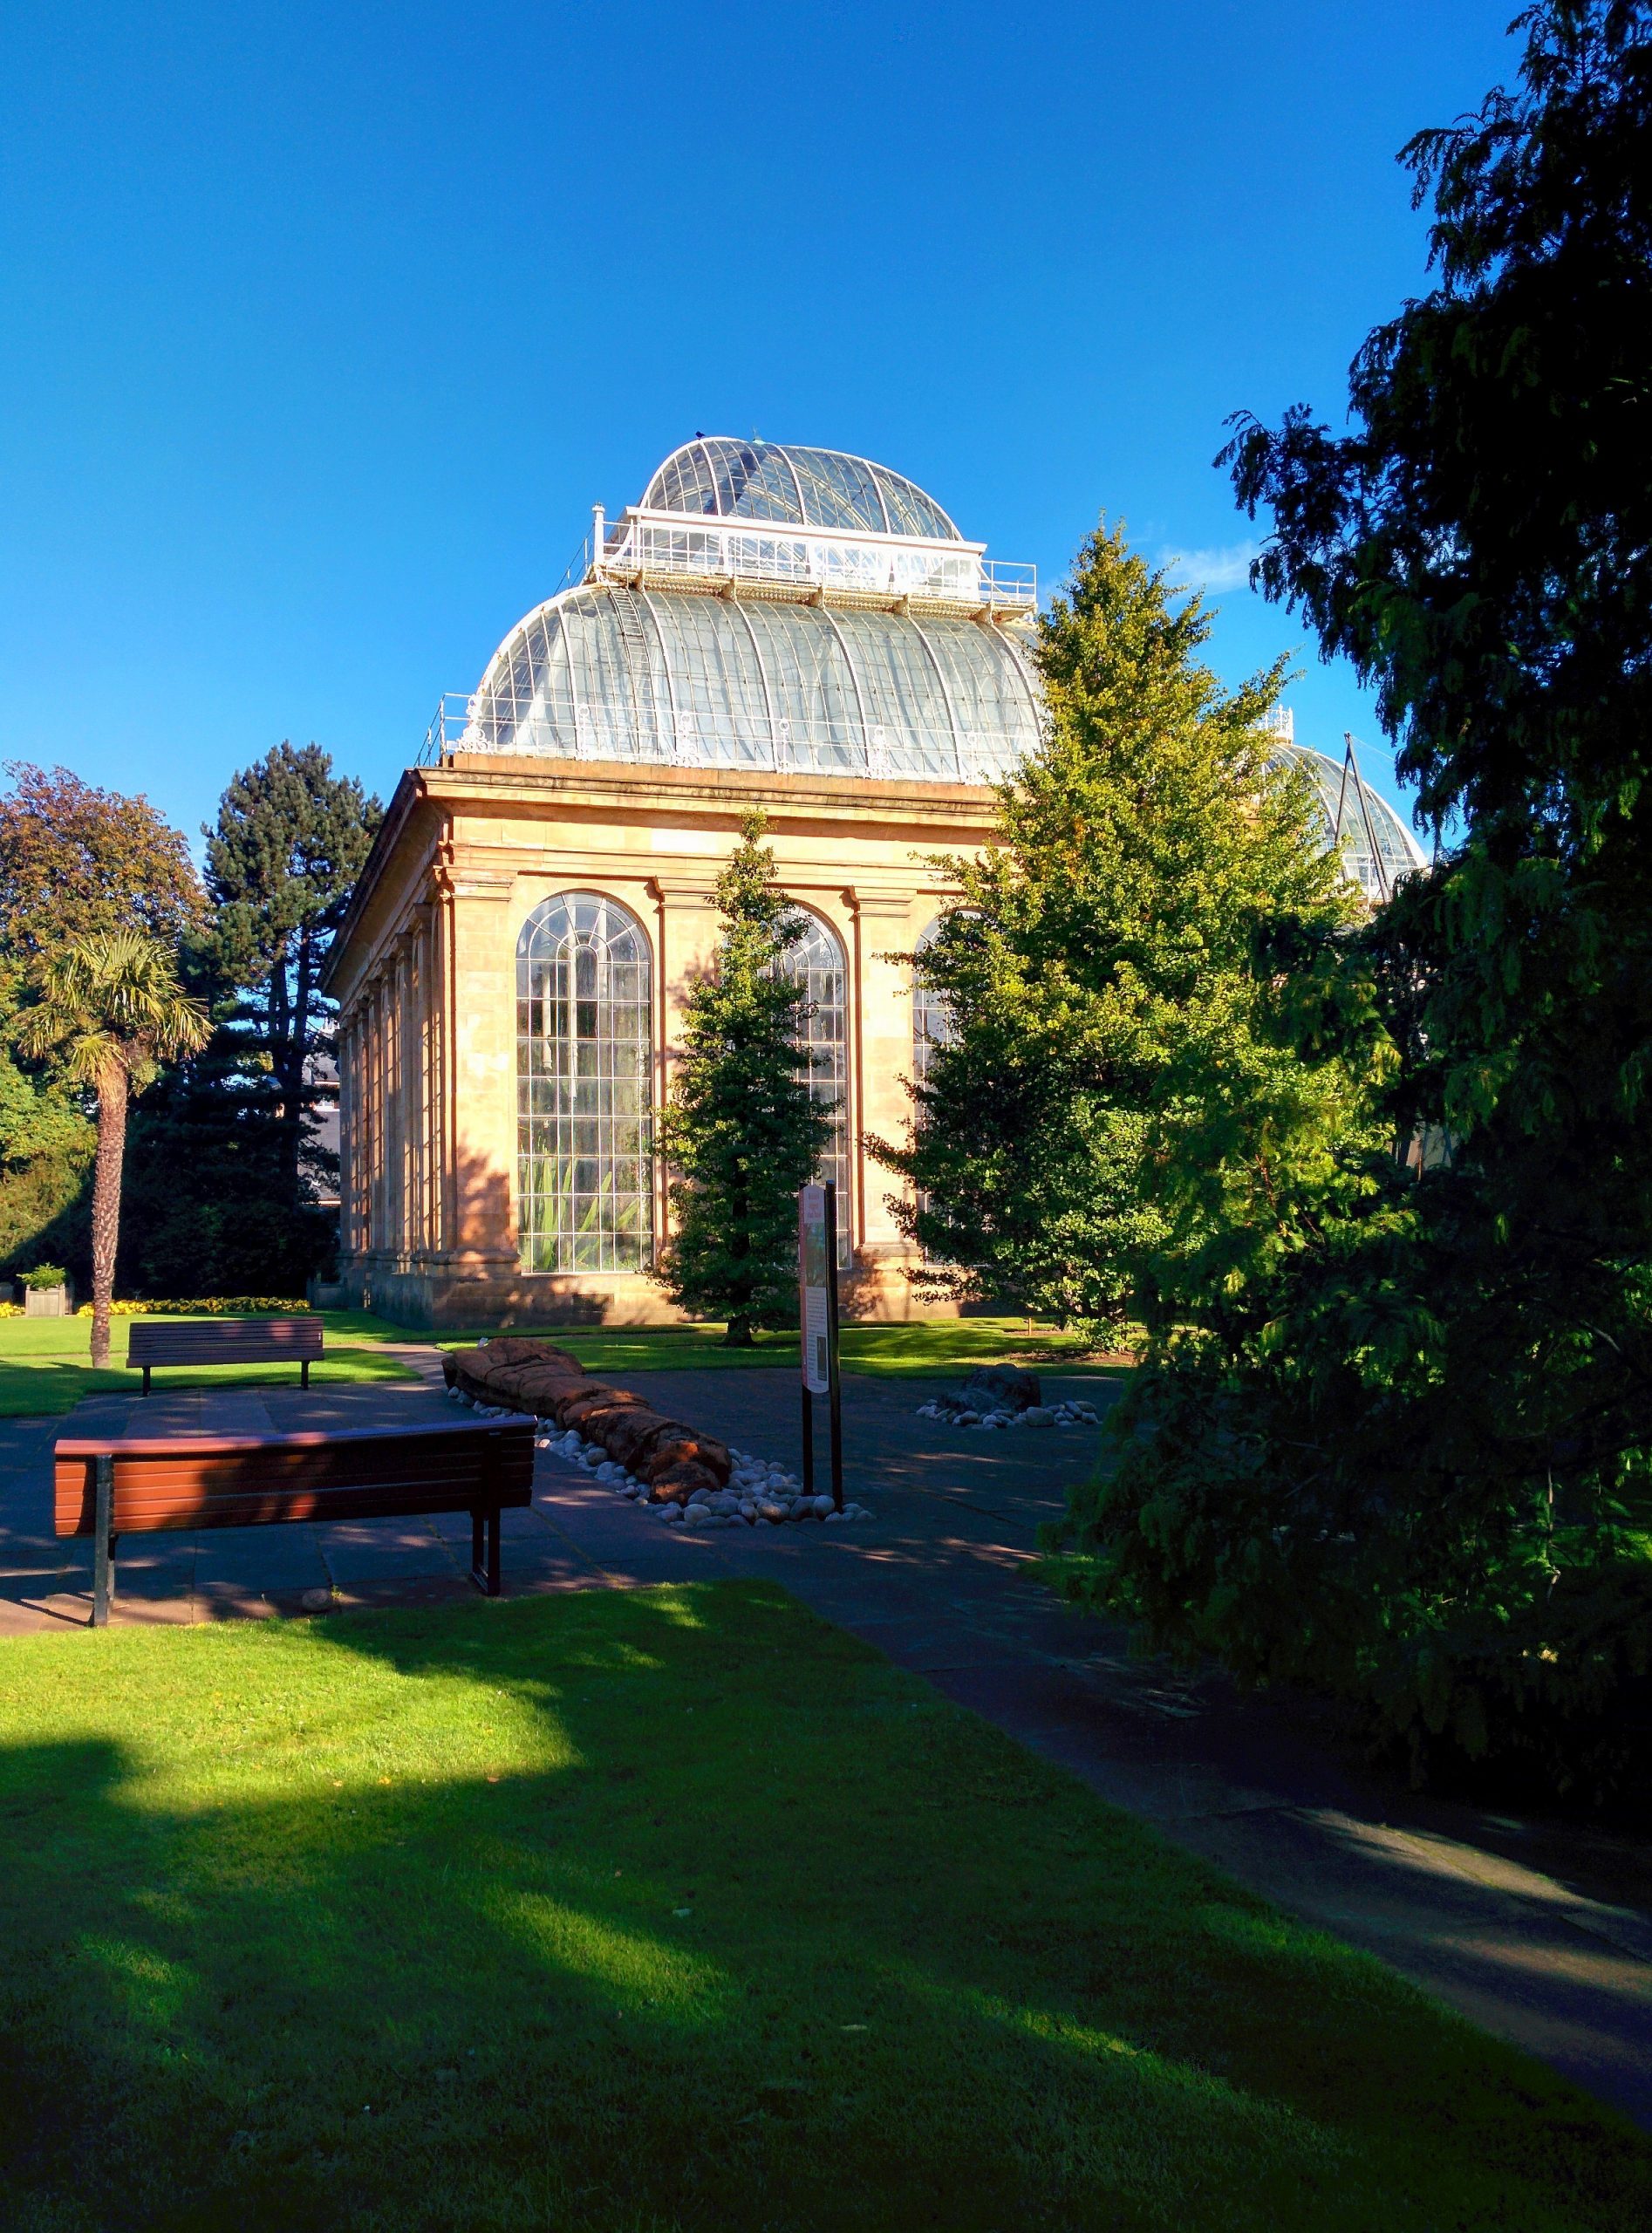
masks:
<path id="1" fill-rule="evenodd" d="M 578 583 L 442 703 L 426 755 L 998 782 L 1038 739 L 1038 583 L 982 554 L 886 467 L 697 438 L 618 523 L 596 511 Z"/>

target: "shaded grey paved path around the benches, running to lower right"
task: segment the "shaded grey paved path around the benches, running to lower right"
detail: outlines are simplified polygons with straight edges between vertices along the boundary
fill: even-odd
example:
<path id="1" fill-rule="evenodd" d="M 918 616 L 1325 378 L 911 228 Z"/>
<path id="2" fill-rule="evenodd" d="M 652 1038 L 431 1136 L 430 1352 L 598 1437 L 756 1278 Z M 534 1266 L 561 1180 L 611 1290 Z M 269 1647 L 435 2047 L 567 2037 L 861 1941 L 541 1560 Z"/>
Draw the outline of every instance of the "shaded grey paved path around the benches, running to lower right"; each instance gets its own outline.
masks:
<path id="1" fill-rule="evenodd" d="M 406 1351 L 433 1364 L 431 1353 Z M 797 1382 L 768 1369 L 627 1373 L 741 1449 L 797 1458 Z M 1101 1400 L 1096 1380 L 1049 1380 Z M 1252 1889 L 1386 1956 L 1440 1999 L 1652 2128 L 1652 1858 L 1563 1824 L 1424 1800 L 1360 1764 L 1299 1699 L 1246 1699 L 1127 1655 L 1025 1576 L 1038 1523 L 1087 1465 L 1078 1431 L 960 1434 L 913 1416 L 933 1389 L 844 1382 L 851 1527 L 667 1530 L 540 1456 L 534 1507 L 505 1516 L 509 1594 L 766 1574 L 976 1708 L 1103 1798 Z M 141 1418 L 234 1431 L 415 1418 L 429 1387 L 237 1389 L 87 1400 L 74 1429 Z M 51 1536 L 63 1420 L 0 1422 L 0 1637 L 83 1626 L 89 1545 Z M 822 1451 L 824 1458 L 824 1451 Z M 116 1617 L 201 1621 L 469 1594 L 469 1521 L 129 1536 Z M 0 1686 L 4 1657 L 0 1648 Z"/>

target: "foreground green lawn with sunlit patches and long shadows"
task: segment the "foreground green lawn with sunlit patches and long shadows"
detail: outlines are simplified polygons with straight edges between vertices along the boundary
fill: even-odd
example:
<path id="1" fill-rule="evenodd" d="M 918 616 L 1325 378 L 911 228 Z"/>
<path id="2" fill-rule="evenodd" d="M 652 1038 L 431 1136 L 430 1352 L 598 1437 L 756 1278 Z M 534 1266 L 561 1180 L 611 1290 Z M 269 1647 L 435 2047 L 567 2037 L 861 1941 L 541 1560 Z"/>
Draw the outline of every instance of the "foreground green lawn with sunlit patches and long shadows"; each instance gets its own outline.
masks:
<path id="1" fill-rule="evenodd" d="M 784 1592 L 0 1646 L 7 2233 L 1511 2233 L 1652 2148 Z"/>

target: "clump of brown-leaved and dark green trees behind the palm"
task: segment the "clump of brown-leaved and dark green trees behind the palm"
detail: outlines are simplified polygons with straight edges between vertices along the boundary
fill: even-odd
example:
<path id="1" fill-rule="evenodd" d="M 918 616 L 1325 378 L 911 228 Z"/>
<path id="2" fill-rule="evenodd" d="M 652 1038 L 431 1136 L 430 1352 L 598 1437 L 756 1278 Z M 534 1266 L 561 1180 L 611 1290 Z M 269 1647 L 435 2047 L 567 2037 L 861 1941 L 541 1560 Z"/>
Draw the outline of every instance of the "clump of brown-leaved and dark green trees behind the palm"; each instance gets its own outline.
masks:
<path id="1" fill-rule="evenodd" d="M 380 822 L 317 746 L 234 777 L 208 833 L 208 918 L 188 849 L 143 799 L 13 768 L 0 799 L 0 1257 L 54 1248 L 89 1271 L 92 1125 L 60 1061 L 18 1052 L 25 969 L 85 933 L 183 938 L 212 1043 L 152 1067 L 125 1170 L 121 1282 L 150 1291 L 301 1288 L 333 1250 L 317 1201 L 330 1007 L 317 976 Z"/>

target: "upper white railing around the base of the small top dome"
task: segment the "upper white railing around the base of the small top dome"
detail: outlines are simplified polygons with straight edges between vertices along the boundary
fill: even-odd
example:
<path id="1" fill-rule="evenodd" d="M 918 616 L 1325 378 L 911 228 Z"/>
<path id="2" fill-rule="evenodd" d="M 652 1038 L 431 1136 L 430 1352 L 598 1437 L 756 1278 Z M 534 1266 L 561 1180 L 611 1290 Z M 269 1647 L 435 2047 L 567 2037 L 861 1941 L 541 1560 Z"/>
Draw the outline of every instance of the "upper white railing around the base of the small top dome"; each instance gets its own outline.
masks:
<path id="1" fill-rule="evenodd" d="M 949 605 L 969 612 L 1038 610 L 1038 569 L 985 558 L 980 543 L 933 536 L 835 534 L 763 520 L 701 520 L 683 511 L 641 511 L 605 525 L 596 514 L 585 545 L 585 581 L 683 587 L 748 585 L 755 594 L 844 596 L 855 603 Z"/>

